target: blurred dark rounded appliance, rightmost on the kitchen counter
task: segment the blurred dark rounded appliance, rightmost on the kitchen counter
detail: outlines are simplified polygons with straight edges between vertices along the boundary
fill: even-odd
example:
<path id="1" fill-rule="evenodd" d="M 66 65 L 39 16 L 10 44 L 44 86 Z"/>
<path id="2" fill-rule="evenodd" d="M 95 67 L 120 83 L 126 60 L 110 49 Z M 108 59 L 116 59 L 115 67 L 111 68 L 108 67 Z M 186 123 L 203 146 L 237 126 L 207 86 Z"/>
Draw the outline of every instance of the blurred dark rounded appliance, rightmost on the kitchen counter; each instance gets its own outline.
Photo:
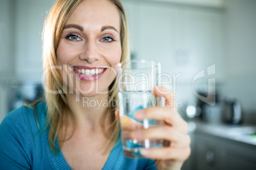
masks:
<path id="1" fill-rule="evenodd" d="M 242 121 L 241 104 L 234 98 L 224 100 L 224 122 L 229 124 L 240 124 Z"/>

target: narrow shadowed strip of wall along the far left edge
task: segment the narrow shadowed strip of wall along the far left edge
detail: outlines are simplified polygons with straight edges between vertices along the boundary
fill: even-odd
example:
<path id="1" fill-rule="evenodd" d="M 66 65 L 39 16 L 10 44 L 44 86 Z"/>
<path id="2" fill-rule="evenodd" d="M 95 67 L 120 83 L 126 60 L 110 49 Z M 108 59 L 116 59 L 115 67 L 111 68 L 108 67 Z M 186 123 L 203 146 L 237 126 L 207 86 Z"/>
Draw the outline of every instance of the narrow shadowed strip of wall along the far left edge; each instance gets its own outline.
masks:
<path id="1" fill-rule="evenodd" d="M 13 77 L 13 1 L 0 2 L 0 122 L 8 112 L 8 96 Z"/>

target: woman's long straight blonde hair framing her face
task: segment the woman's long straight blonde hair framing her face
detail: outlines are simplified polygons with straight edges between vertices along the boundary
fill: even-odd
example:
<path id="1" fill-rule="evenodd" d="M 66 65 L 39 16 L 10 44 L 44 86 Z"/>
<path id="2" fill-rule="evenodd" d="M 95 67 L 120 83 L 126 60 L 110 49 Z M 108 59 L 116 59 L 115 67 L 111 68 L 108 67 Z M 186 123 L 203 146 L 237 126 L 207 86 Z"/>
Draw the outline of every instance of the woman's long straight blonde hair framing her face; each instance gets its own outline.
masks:
<path id="1" fill-rule="evenodd" d="M 48 16 L 45 20 L 45 25 L 43 28 L 43 69 L 49 69 L 57 66 L 57 58 L 56 51 L 59 46 L 60 36 L 62 34 L 62 30 L 68 21 L 69 16 L 75 10 L 76 6 L 82 0 L 58 0 L 55 4 L 53 4 Z M 109 0 L 117 7 L 117 10 L 120 14 L 120 40 L 122 46 L 122 56 L 121 61 L 129 59 L 129 41 L 128 41 L 128 32 L 127 32 L 127 20 L 124 12 L 124 8 L 119 0 Z M 115 80 L 116 81 L 116 80 Z M 109 139 L 108 148 L 106 148 L 105 152 L 109 152 L 115 146 L 115 143 L 119 136 L 120 125 L 115 117 L 114 111 L 117 110 L 117 87 L 115 85 L 115 81 L 113 81 L 110 85 L 110 89 L 113 89 L 110 92 L 110 102 L 114 101 L 114 105 L 112 106 L 112 120 L 110 129 L 106 133 L 106 129 L 104 127 L 104 117 L 101 117 L 101 128 L 103 129 L 104 135 Z M 55 145 L 55 141 L 57 136 L 62 132 L 64 121 L 66 115 L 64 115 L 64 107 L 67 105 L 67 99 L 64 93 L 64 83 L 60 77 L 58 69 L 50 69 L 47 74 L 45 74 L 45 86 L 51 91 L 59 91 L 60 93 L 45 93 L 45 102 L 47 106 L 47 122 L 50 127 L 50 131 L 48 134 L 48 141 L 50 145 L 50 149 L 53 154 L 57 154 L 59 151 L 59 147 Z M 72 116 L 72 115 L 71 115 Z M 75 122 L 73 121 L 75 124 Z M 73 131 L 74 133 L 74 131 Z M 108 135 L 110 134 L 110 135 Z M 66 133 L 64 134 L 64 136 Z M 71 138 L 71 137 L 70 137 Z M 61 145 L 60 145 L 61 147 Z"/>

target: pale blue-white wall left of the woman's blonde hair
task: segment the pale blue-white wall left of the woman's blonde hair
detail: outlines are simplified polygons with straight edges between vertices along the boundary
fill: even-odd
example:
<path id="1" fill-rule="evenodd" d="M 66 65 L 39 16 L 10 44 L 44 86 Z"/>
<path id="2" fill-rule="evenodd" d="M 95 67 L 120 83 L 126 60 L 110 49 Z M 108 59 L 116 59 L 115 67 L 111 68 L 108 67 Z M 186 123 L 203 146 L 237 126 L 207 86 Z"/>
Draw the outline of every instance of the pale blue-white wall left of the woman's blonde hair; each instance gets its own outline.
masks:
<path id="1" fill-rule="evenodd" d="M 0 122 L 21 82 L 41 81 L 41 31 L 55 0 L 0 1 Z"/>

